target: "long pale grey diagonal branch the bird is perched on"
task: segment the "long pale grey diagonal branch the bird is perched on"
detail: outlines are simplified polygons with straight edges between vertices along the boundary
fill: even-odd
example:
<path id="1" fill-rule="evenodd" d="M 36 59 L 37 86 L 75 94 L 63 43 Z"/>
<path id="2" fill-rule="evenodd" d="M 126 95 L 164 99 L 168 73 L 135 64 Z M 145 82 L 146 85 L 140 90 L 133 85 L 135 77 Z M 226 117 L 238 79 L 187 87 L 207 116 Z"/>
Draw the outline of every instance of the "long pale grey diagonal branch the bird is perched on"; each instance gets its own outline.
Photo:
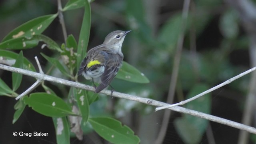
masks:
<path id="1" fill-rule="evenodd" d="M 47 81 L 50 81 L 50 82 L 56 82 L 56 83 L 59 83 L 59 84 L 64 84 L 66 86 L 73 86 L 75 88 L 94 91 L 93 86 L 88 86 L 88 85 L 85 85 L 85 84 L 80 84 L 80 83 L 77 83 L 77 82 L 72 82 L 72 81 L 69 81 L 69 80 L 64 80 L 62 78 L 56 78 L 56 77 L 53 77 L 53 76 L 48 76 L 46 74 L 40 74 L 40 73 L 37 73 L 37 72 L 24 70 L 24 69 L 21 69 L 21 68 L 14 68 L 14 67 L 11 67 L 11 66 L 6 66 L 6 65 L 3 65 L 3 64 L 0 64 L 0 69 L 7 70 L 7 71 L 10 71 L 10 72 L 17 72 L 19 74 L 24 74 L 26 76 L 32 76 L 34 78 L 43 79 L 43 80 L 47 80 Z M 102 90 L 100 93 L 111 96 L 111 90 Z M 158 107 L 160 107 L 160 106 L 169 106 L 169 104 L 164 103 L 164 102 L 159 102 L 157 100 L 153 100 L 153 99 L 150 99 L 150 98 L 141 98 L 141 97 L 138 97 L 138 96 L 133 96 L 133 95 L 130 95 L 130 94 L 124 94 L 124 93 L 120 93 L 120 92 L 113 92 L 112 96 L 117 97 L 117 98 L 124 98 L 124 99 L 127 99 L 127 100 L 132 100 L 132 101 L 136 101 L 136 102 L 141 102 L 141 103 L 148 104 L 148 105 L 151 105 L 151 106 L 158 106 Z M 197 116 L 199 118 L 204 118 L 206 120 L 210 120 L 210 121 L 213 121 L 213 122 L 218 122 L 220 124 L 231 126 L 233 128 L 238 128 L 240 130 L 245 130 L 245 131 L 250 132 L 252 134 L 256 134 L 256 128 L 251 127 L 251 126 L 246 126 L 246 125 L 240 124 L 238 122 L 234 122 L 234 121 L 231 121 L 231 120 L 226 120 L 224 118 L 220 118 L 220 117 L 217 117 L 217 116 L 212 116 L 210 114 L 205 114 L 203 112 L 198 112 L 198 111 L 195 111 L 195 110 L 182 108 L 180 106 L 175 106 L 175 107 L 172 107 L 172 108 L 169 108 L 169 109 L 173 110 L 173 111 L 176 111 L 176 112 L 181 112 L 181 113 L 184 113 L 184 114 L 190 114 L 192 116 Z"/>

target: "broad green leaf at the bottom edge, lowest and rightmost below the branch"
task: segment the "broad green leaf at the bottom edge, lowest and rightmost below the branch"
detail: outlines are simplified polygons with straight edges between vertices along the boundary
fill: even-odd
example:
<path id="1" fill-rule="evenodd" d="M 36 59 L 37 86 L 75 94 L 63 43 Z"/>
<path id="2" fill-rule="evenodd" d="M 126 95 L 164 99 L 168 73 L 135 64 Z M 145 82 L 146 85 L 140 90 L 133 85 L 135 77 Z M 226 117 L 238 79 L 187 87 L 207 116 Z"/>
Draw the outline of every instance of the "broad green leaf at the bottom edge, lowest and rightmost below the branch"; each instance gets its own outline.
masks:
<path id="1" fill-rule="evenodd" d="M 140 139 L 121 122 L 109 117 L 89 118 L 94 130 L 105 140 L 113 144 L 138 144 Z"/>

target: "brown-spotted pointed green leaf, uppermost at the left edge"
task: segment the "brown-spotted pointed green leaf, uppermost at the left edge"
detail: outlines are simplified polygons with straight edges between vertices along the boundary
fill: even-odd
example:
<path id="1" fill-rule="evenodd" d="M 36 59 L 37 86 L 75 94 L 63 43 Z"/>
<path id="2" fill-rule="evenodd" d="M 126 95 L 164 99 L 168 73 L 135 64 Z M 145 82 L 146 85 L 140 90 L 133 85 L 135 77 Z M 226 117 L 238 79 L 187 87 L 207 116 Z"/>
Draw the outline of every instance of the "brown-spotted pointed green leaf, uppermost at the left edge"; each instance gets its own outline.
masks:
<path id="1" fill-rule="evenodd" d="M 20 36 L 32 37 L 35 34 L 41 34 L 57 16 L 58 14 L 50 14 L 34 18 L 12 30 L 2 42 Z"/>

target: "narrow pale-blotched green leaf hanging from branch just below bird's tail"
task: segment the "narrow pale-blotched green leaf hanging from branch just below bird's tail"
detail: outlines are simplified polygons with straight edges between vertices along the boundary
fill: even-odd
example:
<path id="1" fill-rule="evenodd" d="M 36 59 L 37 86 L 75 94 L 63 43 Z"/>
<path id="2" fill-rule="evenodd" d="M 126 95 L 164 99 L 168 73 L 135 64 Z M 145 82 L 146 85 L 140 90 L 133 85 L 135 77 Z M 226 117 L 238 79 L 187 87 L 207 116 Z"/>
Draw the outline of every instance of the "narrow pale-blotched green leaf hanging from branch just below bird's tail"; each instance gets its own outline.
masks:
<path id="1" fill-rule="evenodd" d="M 82 115 L 82 122 L 81 125 L 84 127 L 89 119 L 89 103 L 88 97 L 86 95 L 86 90 L 78 89 L 76 102 L 78 104 L 80 114 Z"/>

